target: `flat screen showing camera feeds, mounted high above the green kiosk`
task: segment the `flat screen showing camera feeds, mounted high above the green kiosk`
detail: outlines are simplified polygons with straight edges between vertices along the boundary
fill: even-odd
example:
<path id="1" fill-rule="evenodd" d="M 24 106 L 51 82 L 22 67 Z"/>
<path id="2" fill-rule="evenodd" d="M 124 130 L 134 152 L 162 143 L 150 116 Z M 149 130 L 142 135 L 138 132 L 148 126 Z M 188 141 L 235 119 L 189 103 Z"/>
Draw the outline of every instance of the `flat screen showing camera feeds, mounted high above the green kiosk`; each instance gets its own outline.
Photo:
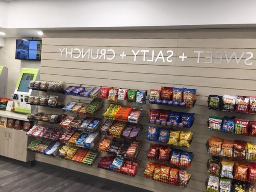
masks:
<path id="1" fill-rule="evenodd" d="M 16 40 L 16 59 L 41 60 L 41 40 Z"/>

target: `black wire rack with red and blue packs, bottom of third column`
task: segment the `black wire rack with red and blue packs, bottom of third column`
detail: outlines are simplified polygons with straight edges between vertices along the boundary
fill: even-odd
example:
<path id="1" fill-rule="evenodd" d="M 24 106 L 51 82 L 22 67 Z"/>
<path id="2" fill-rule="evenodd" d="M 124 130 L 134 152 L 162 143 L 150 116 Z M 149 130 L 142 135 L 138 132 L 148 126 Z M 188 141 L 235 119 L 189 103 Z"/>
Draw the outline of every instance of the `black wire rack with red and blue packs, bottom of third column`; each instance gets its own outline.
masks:
<path id="1" fill-rule="evenodd" d="M 104 157 L 114 157 L 113 155 L 111 154 L 106 154 Z M 117 169 L 117 168 L 111 168 L 110 167 L 110 164 L 106 164 L 104 162 L 98 162 L 98 165 L 97 167 L 100 168 L 100 169 L 104 169 L 104 170 L 108 170 L 108 171 L 111 171 L 111 172 L 115 172 L 115 173 L 119 173 L 119 174 L 123 174 L 123 175 L 127 175 L 127 176 L 130 176 L 130 177 L 135 177 L 137 172 L 138 172 L 138 169 L 140 167 L 140 163 L 142 162 L 142 160 L 135 160 L 133 161 L 135 163 L 138 164 L 138 167 L 136 168 L 136 172 L 134 174 L 130 174 L 128 172 L 123 172 L 121 169 Z"/>

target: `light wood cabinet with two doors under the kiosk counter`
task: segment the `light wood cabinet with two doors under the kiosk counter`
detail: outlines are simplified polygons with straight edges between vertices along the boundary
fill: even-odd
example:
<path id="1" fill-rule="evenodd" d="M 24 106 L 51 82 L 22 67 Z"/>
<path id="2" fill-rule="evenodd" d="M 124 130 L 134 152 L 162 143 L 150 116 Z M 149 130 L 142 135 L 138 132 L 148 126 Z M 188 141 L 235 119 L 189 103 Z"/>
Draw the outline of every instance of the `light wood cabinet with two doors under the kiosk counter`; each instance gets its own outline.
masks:
<path id="1" fill-rule="evenodd" d="M 23 162 L 32 161 L 34 153 L 26 150 L 30 142 L 23 130 L 0 127 L 0 155 Z"/>

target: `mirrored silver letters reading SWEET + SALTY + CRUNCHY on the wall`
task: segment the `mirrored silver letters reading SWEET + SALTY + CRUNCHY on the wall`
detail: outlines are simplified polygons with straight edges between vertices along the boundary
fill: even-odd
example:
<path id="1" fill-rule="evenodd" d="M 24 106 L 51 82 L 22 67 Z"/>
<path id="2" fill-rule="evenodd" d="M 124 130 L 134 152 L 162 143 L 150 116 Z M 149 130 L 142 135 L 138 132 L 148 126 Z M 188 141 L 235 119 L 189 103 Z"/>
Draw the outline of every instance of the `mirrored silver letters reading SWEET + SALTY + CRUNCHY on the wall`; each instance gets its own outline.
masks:
<path id="1" fill-rule="evenodd" d="M 74 58 L 74 59 L 88 59 L 88 60 L 114 60 L 117 57 L 126 59 L 127 56 L 131 56 L 134 61 L 139 62 L 173 62 L 174 51 L 173 50 L 133 50 L 131 49 L 128 53 L 122 52 L 116 54 L 113 49 L 92 49 L 92 48 L 59 48 L 61 58 Z M 203 62 L 204 64 L 229 64 L 232 59 L 235 60 L 236 64 L 244 64 L 246 66 L 252 65 L 252 52 L 240 52 L 236 51 L 204 51 L 194 50 L 192 53 L 193 58 L 196 58 L 196 63 Z M 176 55 L 177 59 L 181 62 L 186 61 L 190 58 L 186 53 Z"/>

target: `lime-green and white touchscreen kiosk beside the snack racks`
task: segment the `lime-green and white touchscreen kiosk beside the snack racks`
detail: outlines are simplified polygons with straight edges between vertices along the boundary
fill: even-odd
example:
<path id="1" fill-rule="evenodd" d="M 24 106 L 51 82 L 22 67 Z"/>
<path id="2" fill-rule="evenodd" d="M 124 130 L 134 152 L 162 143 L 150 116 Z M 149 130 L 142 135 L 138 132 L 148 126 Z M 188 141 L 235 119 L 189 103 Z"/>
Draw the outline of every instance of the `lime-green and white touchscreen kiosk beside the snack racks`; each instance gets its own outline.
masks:
<path id="1" fill-rule="evenodd" d="M 31 113 L 34 106 L 27 104 L 28 97 L 38 94 L 38 91 L 28 88 L 28 84 L 30 81 L 39 80 L 39 76 L 39 69 L 22 68 L 14 94 L 12 95 L 15 112 L 25 114 Z"/>

